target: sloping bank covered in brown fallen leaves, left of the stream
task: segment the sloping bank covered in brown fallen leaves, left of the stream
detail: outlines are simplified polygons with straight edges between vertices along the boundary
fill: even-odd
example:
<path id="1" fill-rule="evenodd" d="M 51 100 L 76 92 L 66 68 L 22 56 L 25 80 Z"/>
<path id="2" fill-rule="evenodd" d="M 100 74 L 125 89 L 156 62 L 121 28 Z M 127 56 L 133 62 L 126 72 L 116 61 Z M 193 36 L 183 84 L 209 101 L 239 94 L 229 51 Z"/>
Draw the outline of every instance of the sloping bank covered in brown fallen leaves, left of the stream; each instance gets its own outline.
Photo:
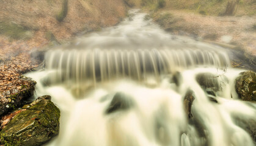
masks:
<path id="1" fill-rule="evenodd" d="M 32 60 L 31 52 L 114 26 L 126 16 L 122 0 L 68 0 L 67 16 L 58 21 L 56 16 L 61 10 L 62 0 L 1 1 L 0 105 L 12 102 L 10 96 L 31 84 L 21 76 L 40 63 Z"/>

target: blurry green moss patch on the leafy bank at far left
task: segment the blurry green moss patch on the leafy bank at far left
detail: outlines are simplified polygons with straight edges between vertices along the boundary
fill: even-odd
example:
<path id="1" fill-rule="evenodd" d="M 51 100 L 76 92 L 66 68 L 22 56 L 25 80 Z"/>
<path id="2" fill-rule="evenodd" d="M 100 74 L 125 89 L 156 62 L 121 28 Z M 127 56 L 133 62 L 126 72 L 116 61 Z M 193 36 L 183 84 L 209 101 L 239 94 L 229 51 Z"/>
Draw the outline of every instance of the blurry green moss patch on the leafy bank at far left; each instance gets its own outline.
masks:
<path id="1" fill-rule="evenodd" d="M 0 22 L 0 34 L 9 36 L 14 40 L 31 38 L 32 33 L 13 22 Z"/>

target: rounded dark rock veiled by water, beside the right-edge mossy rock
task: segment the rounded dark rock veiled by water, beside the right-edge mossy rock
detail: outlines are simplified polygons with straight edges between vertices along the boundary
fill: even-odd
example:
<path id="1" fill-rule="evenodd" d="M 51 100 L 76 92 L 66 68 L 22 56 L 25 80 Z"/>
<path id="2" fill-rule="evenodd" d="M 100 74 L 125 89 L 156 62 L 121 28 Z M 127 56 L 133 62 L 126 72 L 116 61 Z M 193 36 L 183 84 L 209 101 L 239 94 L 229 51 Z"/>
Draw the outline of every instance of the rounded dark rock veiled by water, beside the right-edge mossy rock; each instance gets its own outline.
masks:
<path id="1" fill-rule="evenodd" d="M 219 84 L 218 75 L 211 73 L 200 73 L 196 76 L 196 81 L 199 85 L 205 89 L 205 91 L 219 91 L 221 86 Z"/>

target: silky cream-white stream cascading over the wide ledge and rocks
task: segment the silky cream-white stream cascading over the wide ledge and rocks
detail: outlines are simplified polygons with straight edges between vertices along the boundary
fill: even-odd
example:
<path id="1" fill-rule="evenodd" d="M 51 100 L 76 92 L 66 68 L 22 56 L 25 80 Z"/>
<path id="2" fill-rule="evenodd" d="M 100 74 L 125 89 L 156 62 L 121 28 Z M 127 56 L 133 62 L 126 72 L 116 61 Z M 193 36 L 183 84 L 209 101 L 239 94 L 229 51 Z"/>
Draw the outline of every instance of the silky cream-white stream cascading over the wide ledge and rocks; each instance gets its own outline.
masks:
<path id="1" fill-rule="evenodd" d="M 60 134 L 46 145 L 254 145 L 235 117 L 256 121 L 256 105 L 237 100 L 241 71 L 229 68 L 225 50 L 165 33 L 139 10 L 130 15 L 49 50 L 45 70 L 27 75 L 61 111 Z M 214 75 L 214 95 L 199 85 L 202 73 Z"/>

